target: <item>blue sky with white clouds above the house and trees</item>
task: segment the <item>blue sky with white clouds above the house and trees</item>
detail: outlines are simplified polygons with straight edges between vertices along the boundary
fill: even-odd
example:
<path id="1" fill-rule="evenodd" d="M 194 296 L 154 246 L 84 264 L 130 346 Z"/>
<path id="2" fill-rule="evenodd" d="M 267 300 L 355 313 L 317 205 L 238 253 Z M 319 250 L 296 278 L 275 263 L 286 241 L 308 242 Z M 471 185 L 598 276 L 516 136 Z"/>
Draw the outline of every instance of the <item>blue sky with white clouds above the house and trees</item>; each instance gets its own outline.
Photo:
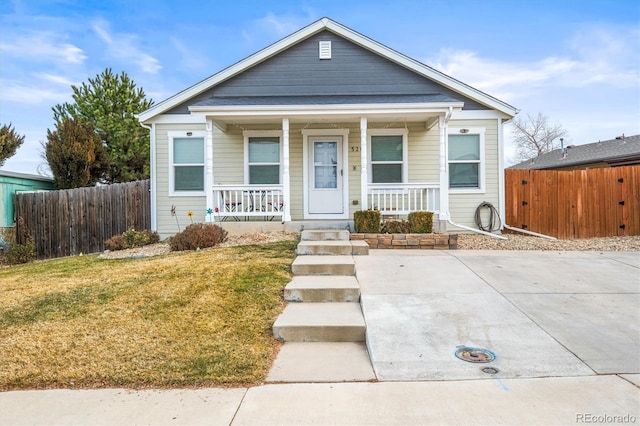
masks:
<path id="1" fill-rule="evenodd" d="M 0 123 L 26 136 L 3 169 L 46 172 L 51 107 L 107 67 L 159 102 L 325 16 L 570 143 L 640 134 L 638 0 L 3 0 Z"/>

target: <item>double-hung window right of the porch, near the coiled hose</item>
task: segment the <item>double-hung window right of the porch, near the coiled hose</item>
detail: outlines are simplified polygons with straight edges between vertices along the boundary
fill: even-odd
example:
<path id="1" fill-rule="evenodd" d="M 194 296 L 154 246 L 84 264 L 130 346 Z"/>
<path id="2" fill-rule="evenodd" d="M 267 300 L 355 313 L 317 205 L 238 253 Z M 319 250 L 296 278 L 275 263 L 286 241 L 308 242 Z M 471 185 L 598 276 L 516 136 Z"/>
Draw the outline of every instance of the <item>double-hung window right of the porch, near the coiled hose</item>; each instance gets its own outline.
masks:
<path id="1" fill-rule="evenodd" d="M 484 130 L 450 129 L 448 147 L 449 188 L 461 191 L 484 189 Z"/>

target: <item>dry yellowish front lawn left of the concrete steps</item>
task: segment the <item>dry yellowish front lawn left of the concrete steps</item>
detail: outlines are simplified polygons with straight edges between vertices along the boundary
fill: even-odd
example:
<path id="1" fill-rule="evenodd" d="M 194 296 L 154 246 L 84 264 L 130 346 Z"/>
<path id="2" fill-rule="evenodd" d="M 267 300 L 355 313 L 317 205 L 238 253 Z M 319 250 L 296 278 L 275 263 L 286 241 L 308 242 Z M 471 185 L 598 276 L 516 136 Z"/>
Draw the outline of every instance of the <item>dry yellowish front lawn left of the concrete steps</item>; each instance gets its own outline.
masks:
<path id="1" fill-rule="evenodd" d="M 0 269 L 0 390 L 247 385 L 278 342 L 295 241 Z"/>

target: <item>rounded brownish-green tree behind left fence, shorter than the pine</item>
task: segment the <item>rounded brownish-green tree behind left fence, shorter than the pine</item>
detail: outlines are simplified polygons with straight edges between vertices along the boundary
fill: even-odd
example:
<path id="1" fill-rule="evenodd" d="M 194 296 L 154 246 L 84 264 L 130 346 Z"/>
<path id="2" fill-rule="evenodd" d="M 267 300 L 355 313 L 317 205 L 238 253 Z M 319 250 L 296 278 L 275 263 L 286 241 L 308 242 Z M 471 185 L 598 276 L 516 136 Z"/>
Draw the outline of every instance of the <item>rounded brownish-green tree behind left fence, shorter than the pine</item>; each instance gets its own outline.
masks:
<path id="1" fill-rule="evenodd" d="M 59 189 L 92 186 L 108 170 L 108 160 L 90 122 L 63 118 L 47 129 L 45 156 Z"/>

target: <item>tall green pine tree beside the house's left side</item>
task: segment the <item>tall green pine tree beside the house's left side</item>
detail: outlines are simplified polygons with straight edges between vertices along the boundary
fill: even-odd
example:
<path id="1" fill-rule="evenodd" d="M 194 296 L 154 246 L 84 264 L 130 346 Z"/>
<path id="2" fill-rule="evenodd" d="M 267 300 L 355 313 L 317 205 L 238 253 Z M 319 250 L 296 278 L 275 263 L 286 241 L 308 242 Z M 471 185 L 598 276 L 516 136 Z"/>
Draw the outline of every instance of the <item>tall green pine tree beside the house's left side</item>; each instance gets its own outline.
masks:
<path id="1" fill-rule="evenodd" d="M 71 86 L 73 103 L 53 107 L 56 123 L 80 118 L 93 124 L 109 161 L 101 180 L 128 182 L 149 177 L 149 130 L 140 126 L 136 114 L 153 105 L 144 90 L 122 72 L 107 68 L 81 86 Z"/>

